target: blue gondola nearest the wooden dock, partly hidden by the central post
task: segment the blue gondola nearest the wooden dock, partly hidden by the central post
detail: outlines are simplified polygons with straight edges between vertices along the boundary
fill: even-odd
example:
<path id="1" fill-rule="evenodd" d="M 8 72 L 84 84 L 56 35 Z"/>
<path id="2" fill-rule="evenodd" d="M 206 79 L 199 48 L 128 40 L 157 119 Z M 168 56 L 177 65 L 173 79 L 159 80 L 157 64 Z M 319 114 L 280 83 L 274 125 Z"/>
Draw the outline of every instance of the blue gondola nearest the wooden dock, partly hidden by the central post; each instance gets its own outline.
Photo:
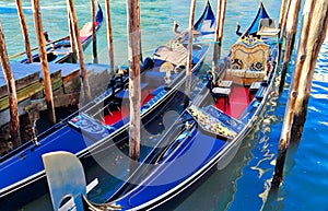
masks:
<path id="1" fill-rule="evenodd" d="M 192 45 L 192 72 L 200 70 L 210 48 L 203 38 L 214 33 L 214 15 L 207 7 L 196 30 Z M 207 22 L 206 25 L 202 25 Z M 141 121 L 143 127 L 167 109 L 176 109 L 185 95 L 188 32 L 179 33 L 166 45 L 157 47 L 153 57 L 141 65 Z M 128 142 L 129 75 L 120 68 L 108 83 L 108 90 L 31 142 L 0 159 L 0 210 L 20 207 L 47 190 L 42 155 L 52 151 L 75 154 L 84 166 L 93 156 L 106 155 L 110 148 Z M 106 151 L 104 151 L 106 149 Z M 28 192 L 34 192 L 33 195 Z"/>

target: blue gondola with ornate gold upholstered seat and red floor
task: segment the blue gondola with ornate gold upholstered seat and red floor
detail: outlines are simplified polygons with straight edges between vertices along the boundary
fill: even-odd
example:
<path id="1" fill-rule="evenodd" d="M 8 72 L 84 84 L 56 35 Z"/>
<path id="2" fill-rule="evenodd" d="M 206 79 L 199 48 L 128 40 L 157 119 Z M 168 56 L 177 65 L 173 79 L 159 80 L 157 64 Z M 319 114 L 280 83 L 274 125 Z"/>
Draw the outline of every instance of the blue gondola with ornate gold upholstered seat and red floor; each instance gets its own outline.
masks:
<path id="1" fill-rule="evenodd" d="M 227 58 L 159 145 L 104 203 L 83 197 L 84 210 L 151 210 L 213 169 L 224 168 L 259 119 L 273 89 L 279 32 L 262 2 Z M 204 97 L 206 96 L 206 97 Z"/>

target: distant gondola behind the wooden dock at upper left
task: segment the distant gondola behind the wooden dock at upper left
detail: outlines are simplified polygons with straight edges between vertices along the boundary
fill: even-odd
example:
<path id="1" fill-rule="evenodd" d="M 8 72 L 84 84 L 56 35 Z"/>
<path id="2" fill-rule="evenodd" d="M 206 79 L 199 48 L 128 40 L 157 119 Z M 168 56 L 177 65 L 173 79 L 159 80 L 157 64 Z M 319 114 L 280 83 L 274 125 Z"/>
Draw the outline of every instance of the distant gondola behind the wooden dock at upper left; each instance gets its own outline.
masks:
<path id="1" fill-rule="evenodd" d="M 99 2 L 97 2 L 97 8 L 98 10 L 96 13 L 96 27 L 95 27 L 96 32 L 101 30 L 104 22 L 104 14 Z M 92 22 L 87 22 L 83 25 L 83 27 L 80 30 L 80 37 L 81 37 L 81 44 L 83 50 L 85 50 L 93 39 Z M 47 42 L 47 45 L 50 46 L 47 48 L 48 62 L 54 62 L 54 63 L 73 62 L 73 56 L 71 52 L 71 42 L 69 36 L 51 42 L 49 39 L 48 33 L 45 32 L 45 39 Z M 40 58 L 38 54 L 33 55 L 33 62 L 40 62 Z M 21 63 L 28 63 L 28 59 L 26 58 L 21 60 Z"/>

